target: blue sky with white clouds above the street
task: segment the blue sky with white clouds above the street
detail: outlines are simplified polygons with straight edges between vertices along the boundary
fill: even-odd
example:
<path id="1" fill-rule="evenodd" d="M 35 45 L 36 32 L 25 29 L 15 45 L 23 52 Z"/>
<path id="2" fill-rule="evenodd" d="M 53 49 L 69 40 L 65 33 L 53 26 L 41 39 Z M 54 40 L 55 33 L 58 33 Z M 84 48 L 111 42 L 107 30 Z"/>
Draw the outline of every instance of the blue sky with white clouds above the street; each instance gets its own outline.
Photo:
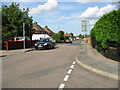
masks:
<path id="1" fill-rule="evenodd" d="M 9 6 L 13 1 L 3 1 L 2 4 Z M 101 2 L 98 2 L 98 0 L 15 1 L 20 4 L 21 9 L 29 8 L 29 16 L 33 17 L 33 22 L 37 22 L 42 27 L 47 25 L 55 33 L 63 30 L 65 33 L 74 33 L 74 35 L 84 34 L 82 32 L 82 20 L 90 22 L 90 27 L 86 32 L 89 34 L 89 31 L 101 16 L 118 9 L 117 4 L 113 1 L 103 0 Z"/>

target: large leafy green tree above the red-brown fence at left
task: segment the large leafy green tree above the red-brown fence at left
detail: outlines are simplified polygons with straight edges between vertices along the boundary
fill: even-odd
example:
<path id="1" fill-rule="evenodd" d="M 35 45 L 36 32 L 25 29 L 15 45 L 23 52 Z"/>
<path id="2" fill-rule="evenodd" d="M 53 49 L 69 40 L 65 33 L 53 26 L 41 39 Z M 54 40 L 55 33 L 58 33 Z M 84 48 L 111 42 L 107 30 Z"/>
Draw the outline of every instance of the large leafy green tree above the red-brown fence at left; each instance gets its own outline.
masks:
<path id="1" fill-rule="evenodd" d="M 30 37 L 32 33 L 32 17 L 28 16 L 29 9 L 21 10 L 19 4 L 10 6 L 2 5 L 2 37 L 3 41 L 15 36 L 23 35 L 23 22 L 25 23 L 25 35 Z"/>

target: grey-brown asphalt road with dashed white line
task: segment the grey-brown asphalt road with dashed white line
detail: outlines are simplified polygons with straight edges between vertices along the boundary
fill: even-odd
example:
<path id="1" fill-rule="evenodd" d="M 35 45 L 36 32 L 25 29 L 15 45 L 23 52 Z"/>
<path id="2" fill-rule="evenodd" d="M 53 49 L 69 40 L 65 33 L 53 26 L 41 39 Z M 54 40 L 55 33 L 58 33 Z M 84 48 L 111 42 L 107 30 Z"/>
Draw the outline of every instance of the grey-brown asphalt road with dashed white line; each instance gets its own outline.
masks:
<path id="1" fill-rule="evenodd" d="M 60 44 L 51 50 L 33 50 L 3 57 L 2 87 L 117 88 L 117 80 L 88 71 L 75 63 L 79 45 L 78 42 Z"/>

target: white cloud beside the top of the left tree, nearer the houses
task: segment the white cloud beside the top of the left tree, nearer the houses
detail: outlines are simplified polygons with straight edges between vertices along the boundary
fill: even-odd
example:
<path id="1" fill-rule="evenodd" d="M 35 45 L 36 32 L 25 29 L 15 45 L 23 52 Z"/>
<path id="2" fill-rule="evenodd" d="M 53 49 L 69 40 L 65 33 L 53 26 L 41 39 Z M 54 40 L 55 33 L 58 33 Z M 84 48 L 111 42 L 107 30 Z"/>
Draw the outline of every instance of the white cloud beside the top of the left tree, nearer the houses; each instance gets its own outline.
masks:
<path id="1" fill-rule="evenodd" d="M 38 7 L 35 7 L 32 10 L 30 10 L 29 14 L 37 15 L 43 11 L 50 11 L 50 10 L 55 9 L 57 5 L 58 5 L 57 0 L 48 0 L 48 2 L 46 2 L 45 4 L 39 5 Z"/>

